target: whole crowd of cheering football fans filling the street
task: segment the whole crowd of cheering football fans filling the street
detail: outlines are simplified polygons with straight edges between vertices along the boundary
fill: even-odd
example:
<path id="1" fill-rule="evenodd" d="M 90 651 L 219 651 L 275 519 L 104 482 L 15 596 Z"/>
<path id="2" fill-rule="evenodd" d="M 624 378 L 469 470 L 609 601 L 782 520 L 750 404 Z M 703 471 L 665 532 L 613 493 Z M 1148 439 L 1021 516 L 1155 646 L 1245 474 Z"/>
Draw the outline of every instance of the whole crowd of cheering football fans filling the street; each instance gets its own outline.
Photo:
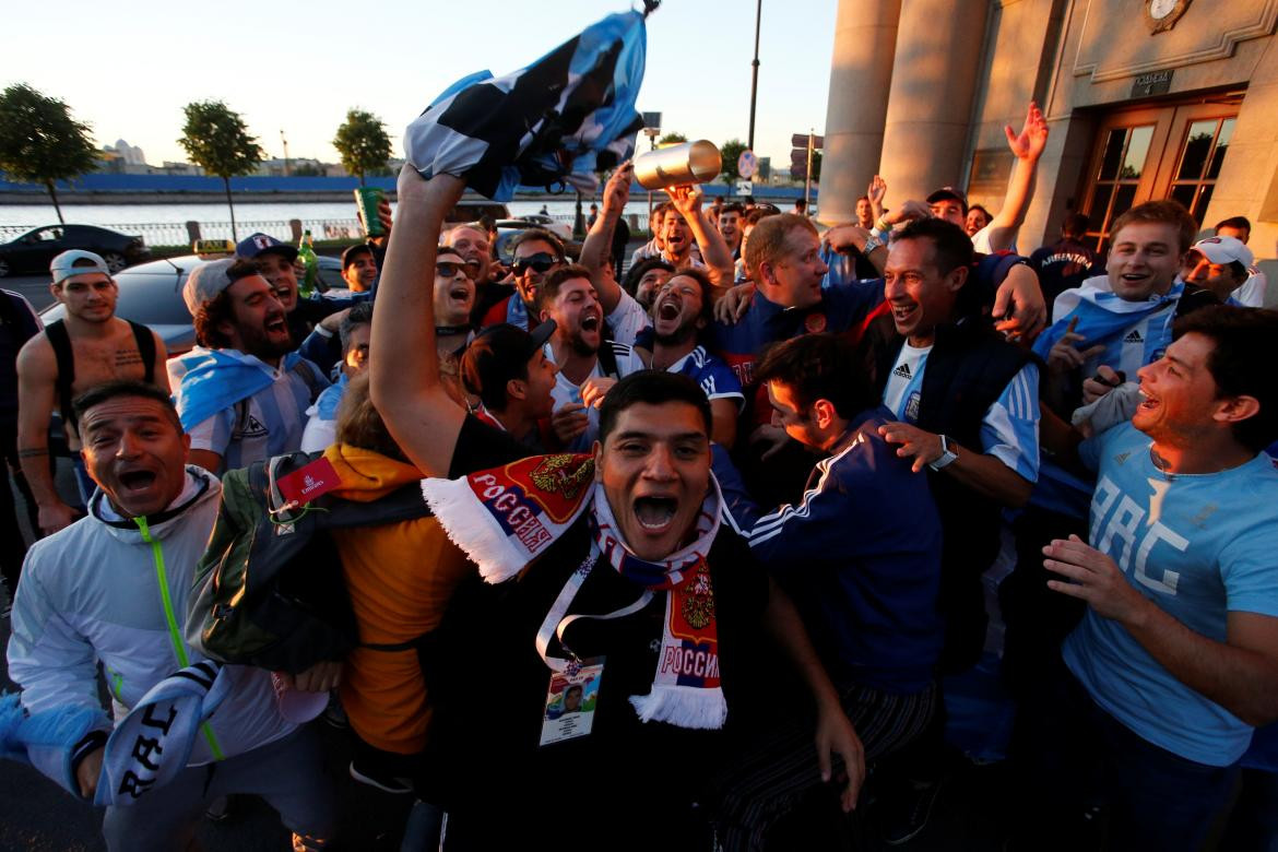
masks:
<path id="1" fill-rule="evenodd" d="M 1151 201 L 1022 255 L 1045 141 L 1031 106 L 994 212 L 875 178 L 818 227 L 675 186 L 633 243 L 625 164 L 584 243 L 506 258 L 451 222 L 463 179 L 409 167 L 348 293 L 300 298 L 256 234 L 185 280 L 171 359 L 102 258 L 59 255 L 65 319 L 0 298 L 0 754 L 105 805 L 112 849 L 185 848 L 233 793 L 340 843 L 321 714 L 429 847 L 904 844 L 952 773 L 946 685 L 993 658 L 1008 848 L 1272 848 L 1250 224 Z M 281 603 L 226 641 L 253 595 Z M 226 650 L 253 630 L 302 651 Z"/>

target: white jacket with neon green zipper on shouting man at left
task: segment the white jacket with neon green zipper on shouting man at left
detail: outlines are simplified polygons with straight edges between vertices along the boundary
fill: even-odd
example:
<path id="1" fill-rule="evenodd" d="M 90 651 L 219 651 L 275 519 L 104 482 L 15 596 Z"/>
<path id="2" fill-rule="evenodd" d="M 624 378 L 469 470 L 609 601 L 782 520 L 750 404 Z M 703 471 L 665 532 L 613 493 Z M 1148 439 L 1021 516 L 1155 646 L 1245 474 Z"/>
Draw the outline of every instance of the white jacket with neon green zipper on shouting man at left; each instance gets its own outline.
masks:
<path id="1" fill-rule="evenodd" d="M 187 488 L 155 525 L 107 520 L 114 512 L 98 491 L 88 516 L 36 542 L 23 563 L 9 640 L 9 677 L 22 686 L 27 711 L 100 711 L 101 662 L 121 719 L 152 686 L 202 659 L 181 640 L 181 625 L 220 496 L 215 476 L 188 466 Z M 296 727 L 279 713 L 270 672 L 227 669 L 231 692 L 196 737 L 189 765 L 244 754 Z M 66 786 L 69 750 L 31 757 Z"/>

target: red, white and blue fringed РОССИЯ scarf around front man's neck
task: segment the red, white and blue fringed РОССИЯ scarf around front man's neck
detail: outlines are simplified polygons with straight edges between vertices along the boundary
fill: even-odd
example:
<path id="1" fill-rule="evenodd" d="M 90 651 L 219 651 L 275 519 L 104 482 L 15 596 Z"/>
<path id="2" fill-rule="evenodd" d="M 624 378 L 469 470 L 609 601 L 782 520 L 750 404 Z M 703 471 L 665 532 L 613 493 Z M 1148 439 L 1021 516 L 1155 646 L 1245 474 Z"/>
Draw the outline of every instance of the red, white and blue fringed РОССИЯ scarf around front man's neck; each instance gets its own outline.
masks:
<path id="1" fill-rule="evenodd" d="M 530 456 L 461 479 L 424 479 L 422 494 L 449 538 L 488 582 L 518 575 L 589 510 L 593 545 L 607 563 L 647 589 L 647 597 L 667 593 L 652 690 L 630 696 L 639 718 L 681 728 L 723 727 L 727 704 L 720 686 L 714 591 L 707 563 L 722 506 L 713 476 L 697 517 L 695 539 L 662 562 L 640 559 L 626 547 L 588 455 Z M 588 559 L 583 568 L 588 572 L 597 562 Z M 556 602 L 565 612 L 583 580 L 579 570 L 565 585 Z M 561 617 L 550 613 L 552 630 Z M 539 650 L 546 659 L 544 649 Z M 551 659 L 547 664 L 553 668 Z"/>

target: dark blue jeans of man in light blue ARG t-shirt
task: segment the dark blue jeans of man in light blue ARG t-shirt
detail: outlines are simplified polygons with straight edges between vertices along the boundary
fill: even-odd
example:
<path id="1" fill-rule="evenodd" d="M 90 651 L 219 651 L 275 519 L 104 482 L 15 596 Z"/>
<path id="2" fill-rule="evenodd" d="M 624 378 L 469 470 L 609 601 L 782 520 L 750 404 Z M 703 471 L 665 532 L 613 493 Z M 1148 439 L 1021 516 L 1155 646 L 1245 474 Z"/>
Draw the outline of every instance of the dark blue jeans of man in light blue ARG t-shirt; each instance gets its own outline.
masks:
<path id="1" fill-rule="evenodd" d="M 1095 806 L 1109 812 L 1108 848 L 1200 848 L 1238 765 L 1209 766 L 1153 745 L 1056 664 L 1059 671 L 1026 701 L 1013 734 L 1025 848 L 1085 846 L 1071 829 Z"/>

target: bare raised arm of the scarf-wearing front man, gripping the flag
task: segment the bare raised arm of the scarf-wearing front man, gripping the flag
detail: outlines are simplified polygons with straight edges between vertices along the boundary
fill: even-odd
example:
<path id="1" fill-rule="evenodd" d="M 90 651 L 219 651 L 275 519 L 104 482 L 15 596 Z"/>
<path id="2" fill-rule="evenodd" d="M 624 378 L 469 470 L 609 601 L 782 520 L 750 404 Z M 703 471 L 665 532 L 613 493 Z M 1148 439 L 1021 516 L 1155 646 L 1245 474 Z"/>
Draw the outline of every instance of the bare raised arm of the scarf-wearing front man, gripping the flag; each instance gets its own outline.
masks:
<path id="1" fill-rule="evenodd" d="M 440 381 L 435 350 L 435 253 L 465 181 L 399 176 L 399 211 L 373 308 L 369 392 L 386 428 L 423 473 L 445 476 L 465 418 Z M 405 355 L 408 355 L 405 358 Z"/>

